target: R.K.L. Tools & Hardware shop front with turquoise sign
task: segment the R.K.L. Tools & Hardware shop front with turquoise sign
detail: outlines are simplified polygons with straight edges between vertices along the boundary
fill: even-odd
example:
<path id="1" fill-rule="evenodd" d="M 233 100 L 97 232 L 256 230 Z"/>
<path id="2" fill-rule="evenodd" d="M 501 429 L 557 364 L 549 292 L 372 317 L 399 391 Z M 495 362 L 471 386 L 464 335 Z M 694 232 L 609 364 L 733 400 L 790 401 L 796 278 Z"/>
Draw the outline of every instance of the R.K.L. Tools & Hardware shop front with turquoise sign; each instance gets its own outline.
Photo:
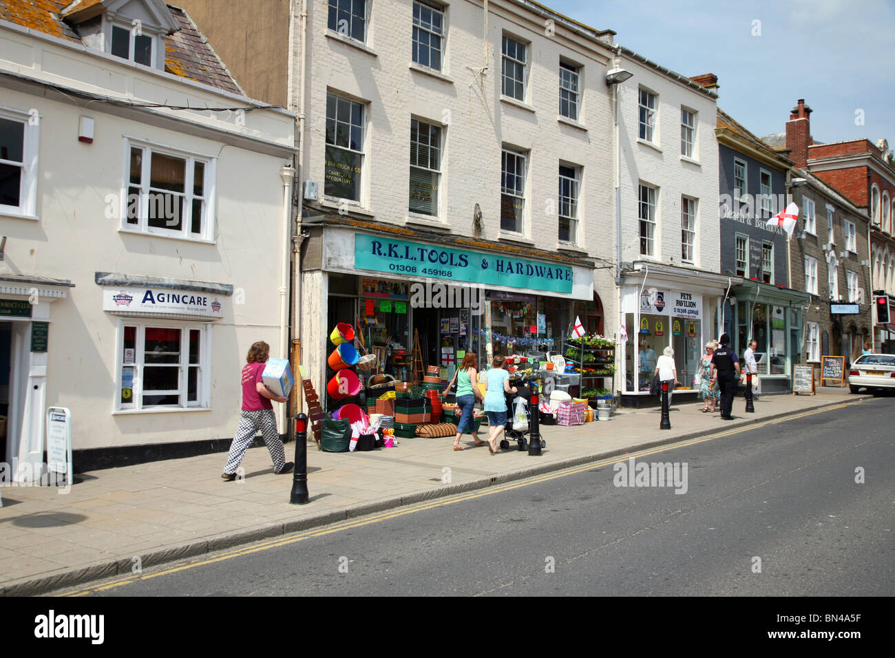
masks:
<path id="1" fill-rule="evenodd" d="M 358 372 L 362 379 L 382 373 L 399 381 L 422 379 L 416 348 L 417 363 L 439 366 L 447 382 L 469 352 L 480 369 L 494 355 L 558 354 L 575 313 L 602 328 L 590 264 L 507 253 L 506 245 L 471 249 L 462 239 L 423 242 L 338 226 L 315 232 L 302 274 L 302 358 L 315 387 L 335 374 L 328 336 L 339 322 L 353 325 L 362 349 L 378 357 L 374 370 Z M 316 295 L 326 312 L 315 312 Z"/>

